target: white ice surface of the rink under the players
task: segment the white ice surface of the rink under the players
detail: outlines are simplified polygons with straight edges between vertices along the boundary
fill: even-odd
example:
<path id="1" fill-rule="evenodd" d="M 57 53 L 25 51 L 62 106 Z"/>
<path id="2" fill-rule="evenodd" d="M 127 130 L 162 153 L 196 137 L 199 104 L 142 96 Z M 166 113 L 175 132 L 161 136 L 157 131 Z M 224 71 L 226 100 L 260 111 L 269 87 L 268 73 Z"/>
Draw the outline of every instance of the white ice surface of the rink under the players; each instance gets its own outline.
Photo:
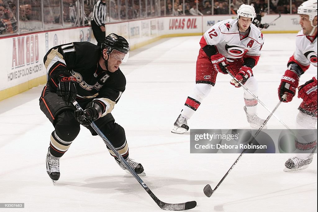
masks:
<path id="1" fill-rule="evenodd" d="M 271 110 L 277 87 L 295 48 L 296 34 L 264 34 L 253 69 L 259 99 Z M 163 202 L 197 201 L 190 211 L 317 211 L 317 155 L 309 168 L 283 172 L 291 154 L 244 154 L 218 190 L 203 193 L 223 177 L 238 154 L 190 154 L 190 135 L 170 133 L 195 84 L 201 36 L 165 38 L 131 52 L 121 65 L 126 91 L 112 114 L 125 128 L 129 153 L 147 173 L 142 177 Z M 317 74 L 314 68 L 300 85 Z M 210 95 L 188 121 L 192 129 L 249 128 L 242 88 L 219 74 Z M 43 85 L 0 102 L 0 202 L 25 203 L 10 211 L 162 211 L 142 186 L 109 155 L 104 142 L 82 127 L 60 160 L 54 186 L 45 156 L 52 124 L 39 109 Z M 275 113 L 291 129 L 301 100 L 282 103 Z M 259 116 L 269 114 L 259 104 Z M 274 117 L 270 129 L 284 129 Z M 8 211 L 8 209 L 0 209 Z"/>

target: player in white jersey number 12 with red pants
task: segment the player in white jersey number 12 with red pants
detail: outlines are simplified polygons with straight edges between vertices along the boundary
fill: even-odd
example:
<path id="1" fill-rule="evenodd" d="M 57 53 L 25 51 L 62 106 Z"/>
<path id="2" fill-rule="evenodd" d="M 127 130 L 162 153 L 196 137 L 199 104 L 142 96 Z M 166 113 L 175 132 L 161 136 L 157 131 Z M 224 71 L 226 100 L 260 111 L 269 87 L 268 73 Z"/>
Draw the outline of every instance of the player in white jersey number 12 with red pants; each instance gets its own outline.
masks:
<path id="1" fill-rule="evenodd" d="M 187 120 L 192 117 L 202 100 L 215 85 L 218 73 L 228 74 L 257 96 L 257 81 L 252 68 L 257 64 L 263 46 L 263 35 L 252 24 L 255 9 L 242 4 L 237 10 L 237 19 L 226 19 L 214 24 L 200 40 L 200 50 L 196 64 L 196 85 L 185 101 L 183 110 L 174 123 L 172 133 L 189 130 Z M 241 87 L 234 79 L 231 85 Z M 257 99 L 244 90 L 244 111 L 252 128 L 259 128 L 265 121 L 256 115 Z"/>

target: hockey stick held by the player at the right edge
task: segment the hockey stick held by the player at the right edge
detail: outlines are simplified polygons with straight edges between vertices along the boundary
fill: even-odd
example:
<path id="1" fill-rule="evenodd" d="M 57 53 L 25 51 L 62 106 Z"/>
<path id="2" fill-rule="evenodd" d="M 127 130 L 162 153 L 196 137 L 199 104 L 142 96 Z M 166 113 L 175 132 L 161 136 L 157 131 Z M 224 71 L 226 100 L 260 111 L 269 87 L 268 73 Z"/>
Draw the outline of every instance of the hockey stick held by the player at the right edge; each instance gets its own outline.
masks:
<path id="1" fill-rule="evenodd" d="M 286 94 L 284 94 L 282 96 L 282 98 L 280 99 L 279 103 L 276 105 L 276 107 L 273 109 L 273 111 L 271 112 L 271 114 L 268 115 L 267 119 L 264 121 L 264 123 L 262 124 L 262 126 L 259 127 L 259 129 L 257 130 L 257 132 L 255 133 L 255 135 L 253 136 L 253 138 L 251 139 L 250 142 L 248 142 L 248 144 L 246 146 L 249 146 L 253 140 L 255 140 L 256 136 L 259 134 L 259 132 L 263 129 L 263 127 L 265 126 L 265 124 L 267 123 L 267 121 L 272 117 L 273 113 L 276 111 L 276 109 L 278 108 L 278 106 L 280 105 L 280 103 L 287 97 Z M 207 197 L 210 197 L 213 192 L 216 191 L 216 189 L 221 185 L 221 183 L 224 181 L 225 177 L 230 173 L 230 171 L 234 168 L 234 166 L 236 165 L 236 163 L 239 161 L 239 159 L 242 157 L 242 155 L 246 152 L 247 148 L 243 150 L 243 152 L 239 155 L 239 157 L 236 159 L 236 161 L 232 164 L 231 168 L 226 172 L 226 174 L 223 176 L 223 178 L 221 179 L 221 181 L 219 181 L 218 185 L 212 190 L 211 186 L 209 184 L 207 184 L 204 189 L 203 192 Z"/>

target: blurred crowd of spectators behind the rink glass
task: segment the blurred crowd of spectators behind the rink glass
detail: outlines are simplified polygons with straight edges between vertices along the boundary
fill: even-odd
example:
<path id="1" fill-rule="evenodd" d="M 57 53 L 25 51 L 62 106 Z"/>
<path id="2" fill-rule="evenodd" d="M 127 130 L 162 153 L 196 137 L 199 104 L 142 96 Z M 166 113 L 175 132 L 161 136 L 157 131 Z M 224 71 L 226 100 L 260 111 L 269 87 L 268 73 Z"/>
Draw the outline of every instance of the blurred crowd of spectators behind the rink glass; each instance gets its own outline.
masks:
<path id="1" fill-rule="evenodd" d="M 0 0 L 0 35 L 90 25 L 93 5 L 97 0 L 84 0 L 84 5 L 81 2 Z M 109 22 L 114 22 L 158 16 L 235 15 L 243 3 L 253 5 L 256 13 L 265 9 L 269 13 L 288 14 L 297 13 L 297 7 L 302 2 L 292 0 L 291 4 L 290 0 L 231 0 L 229 4 L 228 0 L 107 0 L 106 4 Z"/>

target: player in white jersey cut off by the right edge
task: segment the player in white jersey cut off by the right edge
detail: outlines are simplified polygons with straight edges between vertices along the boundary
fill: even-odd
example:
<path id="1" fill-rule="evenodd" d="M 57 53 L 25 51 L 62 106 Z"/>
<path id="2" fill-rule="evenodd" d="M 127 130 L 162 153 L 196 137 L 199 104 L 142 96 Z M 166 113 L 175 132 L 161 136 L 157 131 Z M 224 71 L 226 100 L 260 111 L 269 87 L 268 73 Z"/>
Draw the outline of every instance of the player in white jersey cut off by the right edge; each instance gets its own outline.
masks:
<path id="1" fill-rule="evenodd" d="M 302 3 L 297 10 L 300 16 L 302 30 L 296 36 L 296 50 L 288 61 L 288 69 L 283 75 L 278 88 L 279 98 L 287 94 L 284 102 L 290 102 L 296 94 L 299 78 L 309 68 L 310 64 L 317 68 L 317 0 Z M 298 107 L 295 147 L 300 153 L 289 158 L 284 171 L 294 171 L 308 167 L 313 160 L 313 152 L 317 148 L 317 75 L 298 87 L 298 98 L 303 99 Z M 306 136 L 304 134 L 306 133 Z"/>

